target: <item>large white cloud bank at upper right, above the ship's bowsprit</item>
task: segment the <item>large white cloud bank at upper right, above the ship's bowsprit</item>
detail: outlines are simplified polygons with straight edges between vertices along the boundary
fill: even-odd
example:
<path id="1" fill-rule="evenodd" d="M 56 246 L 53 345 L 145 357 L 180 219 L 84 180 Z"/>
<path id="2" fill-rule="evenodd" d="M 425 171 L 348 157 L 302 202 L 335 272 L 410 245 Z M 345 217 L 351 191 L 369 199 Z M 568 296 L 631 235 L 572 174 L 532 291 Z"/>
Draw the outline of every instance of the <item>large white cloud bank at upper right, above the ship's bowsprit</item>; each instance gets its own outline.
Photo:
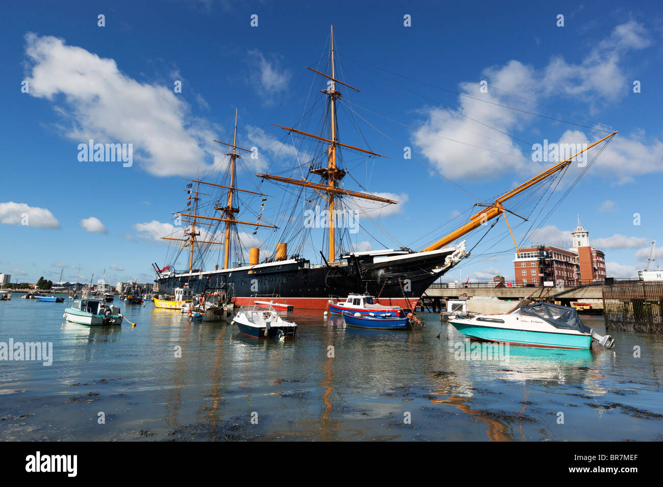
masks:
<path id="1" fill-rule="evenodd" d="M 537 111 L 523 98 L 548 101 L 560 96 L 585 101 L 590 109 L 598 103 L 611 103 L 625 96 L 631 83 L 620 65 L 621 59 L 629 51 L 648 45 L 650 40 L 644 27 L 629 21 L 617 26 L 579 64 L 557 56 L 541 69 L 517 60 L 486 68 L 480 79 L 488 81 L 488 93 L 481 93 L 475 81 L 461 83 L 459 91 L 469 97 L 458 98 L 456 112 L 441 107 L 424 109 L 424 121 L 412 135 L 414 144 L 442 174 L 452 179 L 492 178 L 500 172 L 537 172 L 550 164 L 532 162 L 530 148 L 514 146 L 516 141 L 505 134 L 522 131 L 532 123 L 533 116 L 500 105 Z M 509 93 L 517 93 L 522 98 Z M 587 138 L 580 131 L 567 131 L 560 140 L 595 142 L 598 138 L 595 135 Z M 640 138 L 638 135 L 615 137 L 592 171 L 606 178 L 615 177 L 621 183 L 634 175 L 663 170 L 663 142 L 656 138 L 643 142 Z M 543 140 L 535 142 L 542 144 Z"/>

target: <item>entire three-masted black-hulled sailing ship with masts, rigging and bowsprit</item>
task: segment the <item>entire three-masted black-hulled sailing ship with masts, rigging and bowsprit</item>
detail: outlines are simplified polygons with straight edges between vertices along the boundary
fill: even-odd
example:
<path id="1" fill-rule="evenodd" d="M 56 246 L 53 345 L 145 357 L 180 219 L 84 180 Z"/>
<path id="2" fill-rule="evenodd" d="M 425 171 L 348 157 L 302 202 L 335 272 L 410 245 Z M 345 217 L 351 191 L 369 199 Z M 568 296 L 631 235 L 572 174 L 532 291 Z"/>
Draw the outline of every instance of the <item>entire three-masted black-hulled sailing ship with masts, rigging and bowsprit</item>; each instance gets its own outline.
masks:
<path id="1" fill-rule="evenodd" d="M 326 72 L 307 68 L 324 83 L 324 89 L 320 90 L 324 103 L 314 105 L 318 113 L 322 111 L 322 117 L 306 121 L 316 130 L 304 131 L 304 123 L 298 128 L 272 124 L 302 141 L 293 168 L 280 174 L 255 172 L 255 178 L 243 180 L 253 183 L 251 189 L 240 188 L 239 170 L 247 172 L 246 166 L 242 166 L 242 156 L 253 156 L 253 150 L 237 143 L 235 111 L 232 142 L 215 140 L 229 150 L 225 154 L 228 158 L 225 168 L 215 174 L 215 180 L 201 178 L 200 174 L 194 180 L 186 180 L 186 207 L 173 212 L 175 231 L 162 237 L 175 245 L 171 246 L 163 266 L 152 264 L 156 272 L 154 291 L 159 299 L 173 299 L 176 288 L 190 288 L 195 294 L 232 289 L 238 305 L 249 303 L 252 296 L 274 296 L 278 302 L 296 309 L 325 309 L 333 297 L 367 293 L 377 296 L 383 305 L 412 307 L 433 282 L 469 255 L 463 240 L 465 235 L 499 218 L 505 220 L 511 232 L 507 213 L 524 217 L 514 213 L 513 207 L 507 208 L 508 201 L 549 185 L 550 180 L 564 174 L 575 156 L 617 133 L 605 136 L 494 201 L 477 203 L 480 208 L 463 225 L 419 250 L 406 247 L 356 250 L 347 215 L 356 212 L 356 208 L 361 213 L 362 203 L 386 206 L 396 205 L 398 201 L 361 190 L 355 178 L 347 178 L 351 170 L 343 154 L 351 154 L 355 162 L 360 157 L 385 156 L 346 144 L 339 137 L 337 107 L 342 103 L 339 89 L 359 90 L 337 79 L 333 28 L 329 39 Z M 355 188 L 360 188 L 345 186 L 349 179 Z M 266 205 L 274 207 L 268 203 L 272 196 L 267 194 L 272 192 L 272 186 L 264 189 L 264 182 L 282 188 L 288 195 L 273 211 L 280 221 L 276 217 L 269 221 L 263 216 Z M 259 239 L 255 237 L 259 232 L 267 235 L 261 244 L 257 244 Z M 318 243 L 314 244 L 316 237 Z M 188 268 L 176 270 L 174 262 L 184 250 L 188 252 Z M 266 254 L 262 260 L 261 252 Z M 205 269 L 216 255 L 218 263 L 213 269 Z"/>

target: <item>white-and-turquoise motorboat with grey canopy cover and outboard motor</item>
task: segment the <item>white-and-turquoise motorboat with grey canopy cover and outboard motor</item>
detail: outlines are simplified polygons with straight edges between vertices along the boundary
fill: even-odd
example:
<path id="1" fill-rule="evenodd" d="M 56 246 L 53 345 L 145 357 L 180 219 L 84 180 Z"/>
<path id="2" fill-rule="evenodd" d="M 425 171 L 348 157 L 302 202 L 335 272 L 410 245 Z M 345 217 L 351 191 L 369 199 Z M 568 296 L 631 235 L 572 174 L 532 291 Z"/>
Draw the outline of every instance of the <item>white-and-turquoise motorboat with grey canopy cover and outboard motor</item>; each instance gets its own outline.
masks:
<path id="1" fill-rule="evenodd" d="M 589 349 L 592 343 L 611 349 L 615 340 L 586 327 L 577 311 L 568 306 L 534 303 L 516 307 L 511 313 L 450 317 L 465 337 L 531 347 Z"/>

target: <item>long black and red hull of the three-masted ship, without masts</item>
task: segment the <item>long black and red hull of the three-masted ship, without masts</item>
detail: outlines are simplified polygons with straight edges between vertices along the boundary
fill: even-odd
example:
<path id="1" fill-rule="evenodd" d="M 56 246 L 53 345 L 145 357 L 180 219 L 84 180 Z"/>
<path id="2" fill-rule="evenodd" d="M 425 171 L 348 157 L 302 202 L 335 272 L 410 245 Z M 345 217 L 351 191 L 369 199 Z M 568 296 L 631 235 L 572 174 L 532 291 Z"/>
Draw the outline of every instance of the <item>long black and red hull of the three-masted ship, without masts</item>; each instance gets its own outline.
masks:
<path id="1" fill-rule="evenodd" d="M 194 293 L 228 290 L 239 305 L 251 296 L 278 297 L 298 309 L 325 309 L 331 297 L 351 293 L 379 296 L 383 304 L 413 307 L 430 285 L 460 260 L 464 245 L 432 252 L 351 255 L 337 264 L 310 266 L 308 260 L 283 260 L 227 270 L 176 273 L 155 280 L 160 296 L 189 286 Z M 455 252 L 455 254 L 454 254 Z M 453 254 L 453 256 L 452 256 Z M 449 258 L 449 259 L 448 259 Z"/>

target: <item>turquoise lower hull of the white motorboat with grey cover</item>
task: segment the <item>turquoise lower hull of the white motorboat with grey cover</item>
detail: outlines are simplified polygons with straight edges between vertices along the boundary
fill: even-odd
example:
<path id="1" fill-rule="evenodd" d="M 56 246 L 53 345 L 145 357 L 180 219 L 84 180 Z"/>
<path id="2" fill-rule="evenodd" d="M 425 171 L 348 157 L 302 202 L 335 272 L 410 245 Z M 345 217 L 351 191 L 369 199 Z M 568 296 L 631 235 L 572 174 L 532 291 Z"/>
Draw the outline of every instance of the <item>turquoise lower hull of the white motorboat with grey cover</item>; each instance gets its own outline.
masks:
<path id="1" fill-rule="evenodd" d="M 477 326 L 473 323 L 450 321 L 460 333 L 468 338 L 491 342 L 514 343 L 530 347 L 555 347 L 558 349 L 589 349 L 589 335 L 571 335 L 568 333 L 547 333 L 516 329 Z"/>

